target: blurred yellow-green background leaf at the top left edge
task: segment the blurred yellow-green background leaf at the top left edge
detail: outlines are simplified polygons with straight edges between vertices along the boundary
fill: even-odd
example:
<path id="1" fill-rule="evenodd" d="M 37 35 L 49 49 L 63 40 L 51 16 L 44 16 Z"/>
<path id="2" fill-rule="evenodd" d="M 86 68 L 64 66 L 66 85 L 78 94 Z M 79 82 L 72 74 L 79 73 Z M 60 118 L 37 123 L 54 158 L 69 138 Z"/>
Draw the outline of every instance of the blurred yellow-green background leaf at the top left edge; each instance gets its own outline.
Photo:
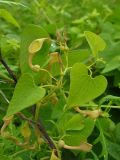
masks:
<path id="1" fill-rule="evenodd" d="M 15 20 L 15 18 L 6 9 L 0 9 L 0 17 L 4 18 L 7 22 L 13 24 L 14 26 L 20 28 L 20 25 Z"/>

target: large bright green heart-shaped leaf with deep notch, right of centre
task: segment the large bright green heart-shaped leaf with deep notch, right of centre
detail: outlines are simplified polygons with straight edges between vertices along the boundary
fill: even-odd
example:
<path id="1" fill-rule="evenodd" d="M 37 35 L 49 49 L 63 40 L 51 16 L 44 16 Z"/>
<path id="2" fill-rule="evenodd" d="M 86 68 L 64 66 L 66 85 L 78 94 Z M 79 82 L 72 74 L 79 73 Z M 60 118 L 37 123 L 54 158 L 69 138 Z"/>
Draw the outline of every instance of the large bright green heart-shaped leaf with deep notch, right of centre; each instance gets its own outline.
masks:
<path id="1" fill-rule="evenodd" d="M 70 94 L 68 105 L 70 107 L 87 103 L 104 93 L 107 80 L 99 75 L 92 78 L 84 64 L 76 63 L 70 74 Z"/>

